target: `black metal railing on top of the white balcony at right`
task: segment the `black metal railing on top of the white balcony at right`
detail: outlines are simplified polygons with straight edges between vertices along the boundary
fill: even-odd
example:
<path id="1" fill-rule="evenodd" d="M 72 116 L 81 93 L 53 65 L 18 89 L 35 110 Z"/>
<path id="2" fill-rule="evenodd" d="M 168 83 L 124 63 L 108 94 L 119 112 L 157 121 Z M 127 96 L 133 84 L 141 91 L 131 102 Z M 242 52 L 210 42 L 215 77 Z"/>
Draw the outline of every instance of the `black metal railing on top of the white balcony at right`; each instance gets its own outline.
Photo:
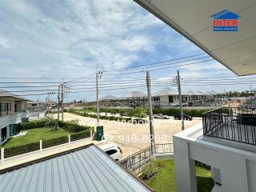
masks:
<path id="1" fill-rule="evenodd" d="M 223 107 L 202 115 L 203 134 L 256 145 L 256 109 Z"/>

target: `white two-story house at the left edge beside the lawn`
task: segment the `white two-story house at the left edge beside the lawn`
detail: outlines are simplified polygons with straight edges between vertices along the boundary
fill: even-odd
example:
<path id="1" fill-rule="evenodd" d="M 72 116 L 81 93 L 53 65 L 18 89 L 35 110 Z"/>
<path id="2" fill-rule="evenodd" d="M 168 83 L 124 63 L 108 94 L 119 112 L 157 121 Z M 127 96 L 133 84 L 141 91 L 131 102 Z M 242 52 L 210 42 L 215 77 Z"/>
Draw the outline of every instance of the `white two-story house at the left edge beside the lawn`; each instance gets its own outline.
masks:
<path id="1" fill-rule="evenodd" d="M 17 134 L 19 122 L 27 122 L 26 110 L 29 99 L 19 97 L 6 90 L 0 90 L 0 144 Z"/>

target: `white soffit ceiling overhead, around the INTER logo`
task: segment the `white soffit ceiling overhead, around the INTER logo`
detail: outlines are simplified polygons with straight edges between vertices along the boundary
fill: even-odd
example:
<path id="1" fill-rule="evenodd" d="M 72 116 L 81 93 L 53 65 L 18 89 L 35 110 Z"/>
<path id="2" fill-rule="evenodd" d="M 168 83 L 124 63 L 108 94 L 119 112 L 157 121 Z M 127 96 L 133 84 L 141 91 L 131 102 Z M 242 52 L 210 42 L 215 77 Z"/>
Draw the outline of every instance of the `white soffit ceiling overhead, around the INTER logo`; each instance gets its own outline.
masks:
<path id="1" fill-rule="evenodd" d="M 255 0 L 134 0 L 238 75 L 256 74 Z M 214 32 L 210 15 L 238 14 L 238 32 Z"/>

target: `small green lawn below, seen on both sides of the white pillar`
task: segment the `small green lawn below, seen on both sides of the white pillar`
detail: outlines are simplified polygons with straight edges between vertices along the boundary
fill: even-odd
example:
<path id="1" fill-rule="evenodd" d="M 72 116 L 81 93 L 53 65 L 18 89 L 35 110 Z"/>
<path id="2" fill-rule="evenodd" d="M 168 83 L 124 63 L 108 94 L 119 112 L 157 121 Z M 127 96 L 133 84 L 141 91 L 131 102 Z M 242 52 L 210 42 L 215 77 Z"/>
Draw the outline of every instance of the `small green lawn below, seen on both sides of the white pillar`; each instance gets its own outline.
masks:
<path id="1" fill-rule="evenodd" d="M 159 168 L 158 174 L 146 181 L 155 192 L 171 192 L 176 191 L 175 178 L 174 178 L 174 161 L 165 161 L 166 166 Z M 196 167 L 198 191 L 210 192 L 214 186 L 212 178 L 210 178 L 210 170 L 202 167 Z M 186 181 L 184 181 L 186 182 Z"/>

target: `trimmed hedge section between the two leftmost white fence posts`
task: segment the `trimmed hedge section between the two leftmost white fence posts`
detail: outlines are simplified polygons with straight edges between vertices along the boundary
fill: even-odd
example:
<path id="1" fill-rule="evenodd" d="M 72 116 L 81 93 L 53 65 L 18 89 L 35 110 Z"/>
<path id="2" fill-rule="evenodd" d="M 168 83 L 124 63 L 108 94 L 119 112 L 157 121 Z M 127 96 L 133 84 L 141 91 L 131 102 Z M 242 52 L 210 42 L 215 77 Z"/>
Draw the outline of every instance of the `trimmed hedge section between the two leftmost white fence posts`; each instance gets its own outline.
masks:
<path id="1" fill-rule="evenodd" d="M 5 148 L 5 158 L 10 158 L 18 154 L 26 154 L 34 150 L 40 150 L 40 142 L 32 142 L 22 146 Z"/>

